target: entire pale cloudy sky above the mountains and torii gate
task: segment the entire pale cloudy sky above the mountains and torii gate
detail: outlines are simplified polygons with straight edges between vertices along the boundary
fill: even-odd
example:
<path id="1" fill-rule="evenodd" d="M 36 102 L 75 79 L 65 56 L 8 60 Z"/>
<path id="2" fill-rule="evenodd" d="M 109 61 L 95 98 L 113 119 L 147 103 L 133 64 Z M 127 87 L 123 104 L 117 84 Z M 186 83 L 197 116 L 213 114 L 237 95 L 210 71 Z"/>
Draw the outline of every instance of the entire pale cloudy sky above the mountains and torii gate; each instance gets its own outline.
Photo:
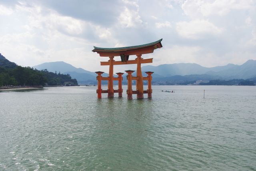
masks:
<path id="1" fill-rule="evenodd" d="M 256 60 L 256 0 L 0 0 L 0 53 L 20 66 L 64 61 L 108 72 L 100 66 L 108 57 L 93 46 L 161 38 L 162 48 L 142 55 L 154 58 L 150 65 Z M 135 69 L 114 66 L 114 72 Z"/>

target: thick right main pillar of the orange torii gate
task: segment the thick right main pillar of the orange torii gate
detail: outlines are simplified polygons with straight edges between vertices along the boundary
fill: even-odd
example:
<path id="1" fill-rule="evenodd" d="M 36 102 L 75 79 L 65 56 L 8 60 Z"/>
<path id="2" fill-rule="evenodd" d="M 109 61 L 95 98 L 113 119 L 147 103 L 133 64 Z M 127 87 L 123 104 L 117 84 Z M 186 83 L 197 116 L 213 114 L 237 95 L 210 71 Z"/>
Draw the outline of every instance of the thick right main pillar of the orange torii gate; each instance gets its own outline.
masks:
<path id="1" fill-rule="evenodd" d="M 137 99 L 143 99 L 143 78 L 142 78 L 142 72 L 141 72 L 141 54 L 136 55 L 137 56 Z"/>

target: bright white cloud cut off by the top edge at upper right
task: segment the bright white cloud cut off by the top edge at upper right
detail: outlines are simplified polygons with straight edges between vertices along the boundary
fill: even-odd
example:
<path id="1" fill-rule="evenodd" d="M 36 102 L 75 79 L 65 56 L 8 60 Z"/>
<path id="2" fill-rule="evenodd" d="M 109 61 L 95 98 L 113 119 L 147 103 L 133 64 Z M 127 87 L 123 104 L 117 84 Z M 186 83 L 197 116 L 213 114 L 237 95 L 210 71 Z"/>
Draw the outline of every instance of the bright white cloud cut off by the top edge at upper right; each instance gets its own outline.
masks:
<path id="1" fill-rule="evenodd" d="M 219 15 L 224 16 L 231 10 L 252 9 L 254 0 L 186 0 L 182 4 L 184 13 L 190 17 Z"/>

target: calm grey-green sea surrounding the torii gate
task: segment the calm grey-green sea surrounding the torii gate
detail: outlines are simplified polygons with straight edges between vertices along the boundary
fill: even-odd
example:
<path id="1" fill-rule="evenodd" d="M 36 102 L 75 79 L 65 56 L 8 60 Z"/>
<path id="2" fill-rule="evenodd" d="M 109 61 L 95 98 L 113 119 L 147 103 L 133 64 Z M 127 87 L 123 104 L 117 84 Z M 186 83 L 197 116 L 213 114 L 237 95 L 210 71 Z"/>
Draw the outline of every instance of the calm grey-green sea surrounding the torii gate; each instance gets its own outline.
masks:
<path id="1" fill-rule="evenodd" d="M 0 170 L 256 170 L 256 86 L 152 88 L 0 92 Z"/>

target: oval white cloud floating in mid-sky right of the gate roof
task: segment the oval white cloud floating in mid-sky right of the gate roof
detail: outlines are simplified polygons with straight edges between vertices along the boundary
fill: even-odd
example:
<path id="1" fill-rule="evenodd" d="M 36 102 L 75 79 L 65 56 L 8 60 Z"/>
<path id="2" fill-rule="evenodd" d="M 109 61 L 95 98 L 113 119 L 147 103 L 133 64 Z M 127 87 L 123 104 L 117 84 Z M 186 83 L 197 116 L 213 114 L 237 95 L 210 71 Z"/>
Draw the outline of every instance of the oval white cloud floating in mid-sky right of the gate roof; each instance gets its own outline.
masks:
<path id="1" fill-rule="evenodd" d="M 218 35 L 222 29 L 207 20 L 192 20 L 190 22 L 178 22 L 176 31 L 184 38 L 198 39 L 207 34 Z"/>

